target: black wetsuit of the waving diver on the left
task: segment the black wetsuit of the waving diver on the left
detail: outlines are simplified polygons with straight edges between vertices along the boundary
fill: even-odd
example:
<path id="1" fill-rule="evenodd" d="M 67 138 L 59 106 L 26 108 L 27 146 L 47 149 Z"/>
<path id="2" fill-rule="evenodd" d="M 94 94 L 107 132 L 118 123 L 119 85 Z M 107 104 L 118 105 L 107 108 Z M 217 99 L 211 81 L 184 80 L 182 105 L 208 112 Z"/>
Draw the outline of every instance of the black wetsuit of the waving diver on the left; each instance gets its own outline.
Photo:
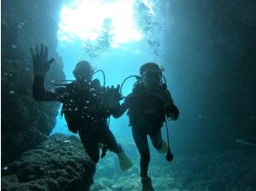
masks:
<path id="1" fill-rule="evenodd" d="M 35 76 L 33 96 L 36 101 L 62 102 L 65 104 L 64 109 L 71 110 L 74 117 L 77 117 L 73 125 L 77 128 L 84 148 L 91 160 L 97 163 L 99 160 L 98 143 L 103 143 L 114 153 L 119 153 L 121 148 L 107 126 L 107 118 L 111 113 L 102 108 L 103 93 L 99 82 L 92 81 L 91 85 L 87 83 L 82 87 L 82 89 L 78 88 L 76 82 L 73 82 L 66 87 L 45 90 L 44 77 Z M 73 129 L 72 132 L 76 130 Z"/>

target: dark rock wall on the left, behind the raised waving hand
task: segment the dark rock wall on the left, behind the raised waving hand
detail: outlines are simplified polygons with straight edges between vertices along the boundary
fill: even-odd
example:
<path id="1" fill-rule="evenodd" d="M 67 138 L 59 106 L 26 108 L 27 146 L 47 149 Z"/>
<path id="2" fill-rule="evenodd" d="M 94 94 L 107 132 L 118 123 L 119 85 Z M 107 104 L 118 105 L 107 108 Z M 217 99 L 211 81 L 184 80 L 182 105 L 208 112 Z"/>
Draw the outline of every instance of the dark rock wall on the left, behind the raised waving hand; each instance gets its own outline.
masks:
<path id="1" fill-rule="evenodd" d="M 57 102 L 35 102 L 30 47 L 48 45 L 56 62 L 45 78 L 64 79 L 63 63 L 57 55 L 59 1 L 2 1 L 2 165 L 46 139 L 55 125 Z"/>

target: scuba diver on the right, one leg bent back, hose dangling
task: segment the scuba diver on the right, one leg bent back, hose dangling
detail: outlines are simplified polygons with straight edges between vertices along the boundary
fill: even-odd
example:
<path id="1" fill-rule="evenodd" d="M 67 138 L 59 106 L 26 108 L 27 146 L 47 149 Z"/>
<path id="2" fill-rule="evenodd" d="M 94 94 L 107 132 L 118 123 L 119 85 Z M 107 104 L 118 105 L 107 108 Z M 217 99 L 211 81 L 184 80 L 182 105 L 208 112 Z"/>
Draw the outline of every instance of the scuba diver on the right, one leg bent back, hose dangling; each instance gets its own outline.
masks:
<path id="1" fill-rule="evenodd" d="M 176 121 L 179 118 L 179 109 L 174 105 L 166 83 L 162 82 L 162 70 L 158 64 L 143 64 L 139 69 L 139 74 L 140 76 L 135 76 L 137 82 L 134 83 L 131 94 L 125 97 L 125 101 L 113 116 L 118 118 L 128 109 L 127 115 L 130 120 L 132 136 L 140 154 L 142 186 L 144 189 L 153 189 L 152 180 L 148 175 L 150 149 L 147 135 L 150 136 L 153 147 L 159 153 L 166 153 L 168 150 L 166 160 L 172 161 L 173 155 L 169 147 L 169 138 L 167 148 L 166 143 L 162 140 L 161 127 L 164 122 L 166 124 L 165 116 L 170 120 Z"/>

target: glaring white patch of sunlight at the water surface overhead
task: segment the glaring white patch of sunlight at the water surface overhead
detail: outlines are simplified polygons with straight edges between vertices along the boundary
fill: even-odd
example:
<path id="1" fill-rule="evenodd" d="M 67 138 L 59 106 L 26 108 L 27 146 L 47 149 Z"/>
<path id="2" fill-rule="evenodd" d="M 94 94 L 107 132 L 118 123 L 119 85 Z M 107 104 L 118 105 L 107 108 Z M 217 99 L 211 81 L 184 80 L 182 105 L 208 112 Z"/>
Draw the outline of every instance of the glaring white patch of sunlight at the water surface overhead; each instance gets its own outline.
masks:
<path id="1" fill-rule="evenodd" d="M 72 1 L 65 3 L 60 15 L 60 42 L 96 41 L 109 36 L 111 47 L 138 42 L 142 33 L 134 21 L 134 1 Z"/>

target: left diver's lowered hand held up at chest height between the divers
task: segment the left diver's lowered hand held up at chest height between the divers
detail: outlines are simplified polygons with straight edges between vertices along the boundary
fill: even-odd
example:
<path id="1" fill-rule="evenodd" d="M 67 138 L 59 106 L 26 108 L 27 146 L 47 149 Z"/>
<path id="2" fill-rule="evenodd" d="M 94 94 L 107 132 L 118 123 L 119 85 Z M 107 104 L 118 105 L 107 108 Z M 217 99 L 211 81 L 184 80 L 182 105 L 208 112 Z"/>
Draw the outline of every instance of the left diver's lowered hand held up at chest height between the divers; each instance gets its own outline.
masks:
<path id="1" fill-rule="evenodd" d="M 103 106 L 104 109 L 107 111 L 112 111 L 114 109 L 118 109 L 120 106 L 119 101 L 121 100 L 121 95 L 119 93 L 120 85 L 115 88 L 114 86 L 111 86 L 111 88 L 108 86 L 107 89 L 104 92 L 104 101 Z"/>

